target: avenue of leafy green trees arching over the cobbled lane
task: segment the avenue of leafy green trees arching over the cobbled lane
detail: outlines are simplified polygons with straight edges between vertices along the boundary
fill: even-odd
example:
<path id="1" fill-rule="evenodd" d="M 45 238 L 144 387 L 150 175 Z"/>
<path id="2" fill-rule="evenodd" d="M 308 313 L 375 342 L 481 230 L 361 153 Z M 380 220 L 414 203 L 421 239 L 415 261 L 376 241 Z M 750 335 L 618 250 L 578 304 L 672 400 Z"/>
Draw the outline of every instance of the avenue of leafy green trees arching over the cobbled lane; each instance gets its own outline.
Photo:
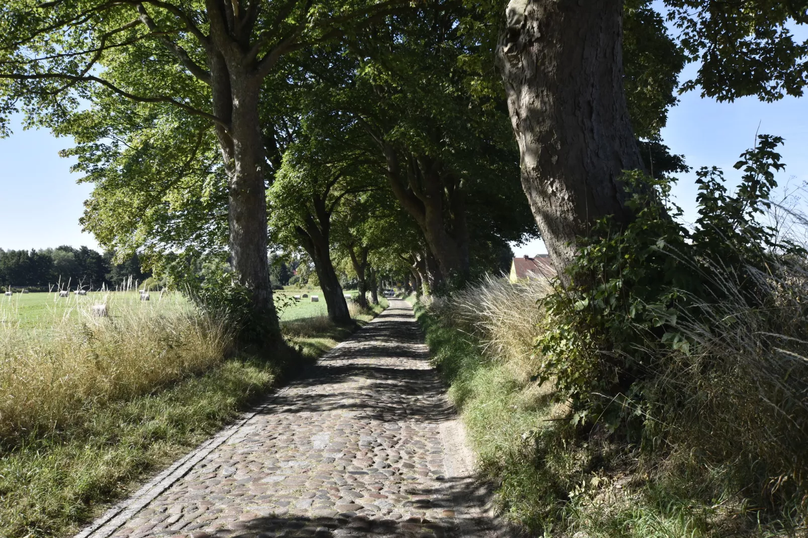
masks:
<path id="1" fill-rule="evenodd" d="M 221 259 L 270 332 L 267 251 L 305 252 L 347 322 L 339 263 L 430 292 L 632 221 L 624 170 L 685 169 L 679 88 L 802 95 L 808 1 L 741 3 L 7 0 L 0 115 L 74 137 L 103 246 Z"/>

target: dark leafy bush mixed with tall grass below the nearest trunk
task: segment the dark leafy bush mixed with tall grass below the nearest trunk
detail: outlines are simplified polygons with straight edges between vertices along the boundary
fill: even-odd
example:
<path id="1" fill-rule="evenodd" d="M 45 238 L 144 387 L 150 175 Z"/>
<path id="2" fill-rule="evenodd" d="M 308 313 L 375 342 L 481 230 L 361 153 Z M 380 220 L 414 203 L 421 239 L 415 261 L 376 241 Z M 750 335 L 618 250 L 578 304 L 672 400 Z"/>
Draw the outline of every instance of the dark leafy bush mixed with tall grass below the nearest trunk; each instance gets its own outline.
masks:
<path id="1" fill-rule="evenodd" d="M 666 181 L 627 174 L 636 220 L 623 230 L 600 221 L 570 283 L 541 301 L 537 376 L 587 435 L 638 443 L 688 495 L 804 516 L 806 250 L 761 222 L 781 142 L 762 135 L 743 153 L 734 194 L 720 170 L 699 170 L 692 231 L 659 201 Z M 662 473 L 660 457 L 676 472 Z"/>

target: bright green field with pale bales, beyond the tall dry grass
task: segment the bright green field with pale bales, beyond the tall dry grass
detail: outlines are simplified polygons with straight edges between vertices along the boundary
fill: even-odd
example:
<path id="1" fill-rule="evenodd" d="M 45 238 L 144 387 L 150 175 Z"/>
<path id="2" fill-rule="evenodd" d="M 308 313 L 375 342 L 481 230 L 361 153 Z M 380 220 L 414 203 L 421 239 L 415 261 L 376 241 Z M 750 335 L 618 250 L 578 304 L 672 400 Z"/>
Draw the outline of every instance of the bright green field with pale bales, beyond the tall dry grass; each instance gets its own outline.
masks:
<path id="1" fill-rule="evenodd" d="M 304 293 L 308 297 L 303 298 Z M 301 299 L 292 304 L 280 300 L 281 297 L 291 299 L 296 295 L 301 295 Z M 311 302 L 312 295 L 319 296 L 320 301 Z M 140 305 L 139 308 L 146 309 L 159 308 L 162 298 L 160 292 L 151 292 L 149 296 L 150 301 L 140 301 L 137 292 L 88 292 L 86 296 L 77 296 L 71 292 L 67 298 L 60 297 L 58 293 L 15 293 L 12 296 L 0 296 L 0 324 L 19 323 L 21 329 L 32 329 L 47 325 L 48 322 L 61 321 L 65 316 L 77 316 L 82 309 L 87 309 L 90 305 L 107 304 L 113 317 L 116 306 L 121 305 Z M 275 296 L 279 307 L 287 304 L 280 314 L 282 322 L 328 314 L 320 288 L 288 287 L 283 291 L 276 291 Z"/>

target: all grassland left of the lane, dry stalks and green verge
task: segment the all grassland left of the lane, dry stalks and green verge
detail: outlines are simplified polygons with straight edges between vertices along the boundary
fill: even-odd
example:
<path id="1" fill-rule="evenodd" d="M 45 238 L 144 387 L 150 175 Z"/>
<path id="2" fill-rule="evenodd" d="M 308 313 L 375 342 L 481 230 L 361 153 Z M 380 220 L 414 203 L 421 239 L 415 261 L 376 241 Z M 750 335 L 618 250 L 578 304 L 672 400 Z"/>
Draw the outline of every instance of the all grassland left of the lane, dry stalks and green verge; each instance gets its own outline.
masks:
<path id="1" fill-rule="evenodd" d="M 0 296 L 0 536 L 75 532 L 351 334 L 325 312 L 288 305 L 261 357 L 179 293 Z"/>

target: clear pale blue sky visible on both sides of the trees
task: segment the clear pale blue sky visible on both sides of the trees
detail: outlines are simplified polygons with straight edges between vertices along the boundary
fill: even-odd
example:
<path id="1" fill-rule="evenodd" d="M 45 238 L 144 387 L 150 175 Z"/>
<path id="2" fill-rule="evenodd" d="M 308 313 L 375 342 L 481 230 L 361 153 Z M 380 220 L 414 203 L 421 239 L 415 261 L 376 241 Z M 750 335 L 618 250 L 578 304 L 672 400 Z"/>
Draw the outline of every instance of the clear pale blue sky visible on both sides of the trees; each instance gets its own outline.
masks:
<path id="1" fill-rule="evenodd" d="M 687 76 L 687 72 L 683 74 Z M 760 125 L 760 128 L 759 128 Z M 663 138 L 674 153 L 684 154 L 688 165 L 720 166 L 733 181 L 732 168 L 739 153 L 751 147 L 755 132 L 785 138 L 782 148 L 785 173 L 778 181 L 793 185 L 808 181 L 808 99 L 786 98 L 761 103 L 755 98 L 734 103 L 701 99 L 697 93 L 682 95 L 671 109 Z M 58 152 L 71 145 L 48 131 L 23 131 L 0 139 L 0 248 L 41 249 L 48 246 L 86 245 L 99 248 L 95 238 L 82 233 L 78 218 L 90 185 L 78 185 L 70 174 L 72 162 Z M 681 174 L 675 197 L 692 220 L 696 212 L 694 174 Z M 516 255 L 545 252 L 541 242 L 514 246 Z"/>

